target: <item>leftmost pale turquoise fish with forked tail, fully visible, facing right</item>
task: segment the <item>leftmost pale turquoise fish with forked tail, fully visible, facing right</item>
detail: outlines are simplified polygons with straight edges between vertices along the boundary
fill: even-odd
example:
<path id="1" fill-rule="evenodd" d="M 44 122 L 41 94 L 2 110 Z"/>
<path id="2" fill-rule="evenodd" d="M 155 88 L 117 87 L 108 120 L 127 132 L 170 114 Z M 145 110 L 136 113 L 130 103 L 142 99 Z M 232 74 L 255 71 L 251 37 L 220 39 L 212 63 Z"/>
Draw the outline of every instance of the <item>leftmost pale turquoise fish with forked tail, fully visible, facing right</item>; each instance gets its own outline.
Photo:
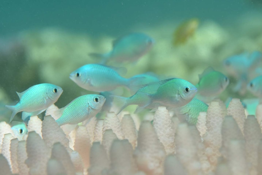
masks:
<path id="1" fill-rule="evenodd" d="M 5 105 L 12 110 L 10 122 L 21 111 L 38 114 L 43 112 L 58 100 L 62 92 L 61 87 L 49 83 L 34 85 L 22 93 L 16 92 L 20 101 L 15 106 Z"/>

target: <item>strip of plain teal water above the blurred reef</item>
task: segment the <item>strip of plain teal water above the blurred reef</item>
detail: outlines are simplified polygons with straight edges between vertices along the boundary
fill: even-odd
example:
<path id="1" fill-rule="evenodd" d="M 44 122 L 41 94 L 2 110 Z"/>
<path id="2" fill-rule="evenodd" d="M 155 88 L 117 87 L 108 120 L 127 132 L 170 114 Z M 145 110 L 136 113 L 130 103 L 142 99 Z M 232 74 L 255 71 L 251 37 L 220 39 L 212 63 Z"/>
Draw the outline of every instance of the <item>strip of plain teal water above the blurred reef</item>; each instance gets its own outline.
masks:
<path id="1" fill-rule="evenodd" d="M 125 33 L 134 25 L 153 27 L 163 21 L 192 17 L 230 23 L 250 10 L 258 10 L 251 0 L 186 1 L 1 1 L 0 34 L 57 26 L 91 35 Z M 259 0 L 257 0 L 259 2 Z"/>

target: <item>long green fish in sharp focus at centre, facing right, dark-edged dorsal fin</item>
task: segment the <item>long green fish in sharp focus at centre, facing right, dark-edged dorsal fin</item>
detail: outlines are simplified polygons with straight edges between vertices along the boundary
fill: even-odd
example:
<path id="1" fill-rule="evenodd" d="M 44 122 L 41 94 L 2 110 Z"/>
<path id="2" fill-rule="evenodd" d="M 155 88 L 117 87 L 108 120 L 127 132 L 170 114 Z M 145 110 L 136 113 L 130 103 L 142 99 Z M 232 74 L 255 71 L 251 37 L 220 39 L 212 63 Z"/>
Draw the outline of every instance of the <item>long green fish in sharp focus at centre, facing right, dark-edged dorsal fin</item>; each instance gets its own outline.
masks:
<path id="1" fill-rule="evenodd" d="M 181 107 L 190 102 L 196 93 L 196 87 L 190 82 L 184 79 L 171 78 L 144 85 L 131 97 L 113 97 L 122 104 L 120 111 L 131 104 L 137 104 L 136 112 L 138 112 L 140 108 Z"/>

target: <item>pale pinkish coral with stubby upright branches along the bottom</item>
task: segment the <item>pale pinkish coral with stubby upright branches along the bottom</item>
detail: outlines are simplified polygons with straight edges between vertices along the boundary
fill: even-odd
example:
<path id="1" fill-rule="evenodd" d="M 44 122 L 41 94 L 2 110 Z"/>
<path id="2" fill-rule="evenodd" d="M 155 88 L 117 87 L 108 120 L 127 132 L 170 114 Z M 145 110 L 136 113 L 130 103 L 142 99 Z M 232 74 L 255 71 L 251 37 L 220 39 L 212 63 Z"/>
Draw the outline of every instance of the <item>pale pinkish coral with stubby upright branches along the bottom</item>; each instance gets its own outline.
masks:
<path id="1" fill-rule="evenodd" d="M 18 141 L 9 134 L 12 132 L 9 124 L 2 123 L 5 129 L 0 128 L 4 149 L 0 154 L 0 175 L 261 174 L 262 132 L 259 120 L 248 116 L 244 120 L 242 134 L 232 116 L 224 117 L 226 111 L 221 105 L 217 101 L 210 104 L 206 123 L 202 123 L 202 128 L 207 128 L 202 137 L 198 125 L 197 129 L 180 123 L 176 116 L 163 120 L 167 117 L 165 107 L 160 107 L 155 113 L 153 123 L 158 127 L 153 126 L 151 121 L 142 121 L 137 138 L 132 139 L 130 133 L 135 136 L 135 122 L 133 116 L 126 112 L 121 120 L 111 113 L 109 118 L 77 126 L 69 135 L 58 127 L 52 117 L 45 116 L 43 121 L 38 122 L 41 123 L 40 134 L 31 131 L 26 141 Z M 231 108 L 231 111 L 236 109 Z M 238 113 L 243 115 L 241 111 Z M 33 117 L 32 121 L 35 119 Z M 104 120 L 107 120 L 107 128 L 103 131 Z M 113 121 L 112 124 L 109 120 Z M 170 121 L 171 124 L 166 124 Z M 163 133 L 172 131 L 173 135 L 166 137 L 161 134 L 157 131 L 161 129 L 159 126 L 164 127 Z M 122 131 L 122 139 L 115 133 L 119 131 L 120 135 Z M 93 132 L 94 140 L 98 138 L 97 142 L 91 141 L 90 132 Z M 166 153 L 161 143 L 166 138 L 175 138 L 175 153 Z M 134 142 L 137 145 L 133 145 Z"/>

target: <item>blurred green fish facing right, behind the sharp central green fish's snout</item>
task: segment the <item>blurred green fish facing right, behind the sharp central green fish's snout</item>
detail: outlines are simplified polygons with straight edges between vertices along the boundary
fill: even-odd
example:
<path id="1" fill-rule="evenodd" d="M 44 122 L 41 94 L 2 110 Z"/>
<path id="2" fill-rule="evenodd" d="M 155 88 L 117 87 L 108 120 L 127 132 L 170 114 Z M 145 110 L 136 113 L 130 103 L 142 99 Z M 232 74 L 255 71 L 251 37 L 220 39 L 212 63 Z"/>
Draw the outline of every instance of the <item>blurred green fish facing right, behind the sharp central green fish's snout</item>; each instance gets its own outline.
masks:
<path id="1" fill-rule="evenodd" d="M 210 102 L 221 94 L 229 85 L 229 79 L 219 71 L 209 67 L 199 75 L 199 82 L 196 85 L 198 89 L 197 98 L 202 101 Z"/>

